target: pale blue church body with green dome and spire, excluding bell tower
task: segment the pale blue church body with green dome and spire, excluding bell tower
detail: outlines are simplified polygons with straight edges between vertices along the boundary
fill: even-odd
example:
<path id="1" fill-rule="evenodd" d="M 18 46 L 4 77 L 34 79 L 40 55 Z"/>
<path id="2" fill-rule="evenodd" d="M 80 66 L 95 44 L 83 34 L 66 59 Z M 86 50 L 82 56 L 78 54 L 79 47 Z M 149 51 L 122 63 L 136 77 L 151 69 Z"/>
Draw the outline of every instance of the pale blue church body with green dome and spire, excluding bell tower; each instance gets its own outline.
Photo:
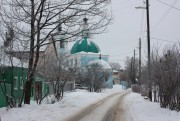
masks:
<path id="1" fill-rule="evenodd" d="M 102 54 L 99 46 L 91 40 L 88 30 L 88 19 L 84 18 L 84 25 L 81 39 L 77 40 L 70 50 L 69 62 L 71 66 L 85 68 L 88 65 L 98 64 L 108 71 L 105 80 L 107 88 L 113 87 L 112 68 L 109 65 L 109 55 Z"/>

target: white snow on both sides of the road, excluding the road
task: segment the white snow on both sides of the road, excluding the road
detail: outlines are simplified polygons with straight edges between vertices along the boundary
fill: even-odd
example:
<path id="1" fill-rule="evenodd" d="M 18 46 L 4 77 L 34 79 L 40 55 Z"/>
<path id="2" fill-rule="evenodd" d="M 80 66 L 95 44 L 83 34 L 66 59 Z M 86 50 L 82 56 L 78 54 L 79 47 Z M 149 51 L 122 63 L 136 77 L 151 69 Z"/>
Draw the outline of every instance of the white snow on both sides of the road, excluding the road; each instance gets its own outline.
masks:
<path id="1" fill-rule="evenodd" d="M 64 98 L 55 104 L 37 105 L 32 102 L 22 108 L 0 108 L 0 121 L 65 121 L 90 104 L 122 91 L 121 85 L 115 85 L 113 89 L 106 89 L 101 93 L 76 90 L 65 93 Z M 137 93 L 128 94 L 122 105 L 126 106 L 127 119 L 133 121 L 180 121 L 180 112 L 160 108 L 159 103 L 145 100 Z"/>

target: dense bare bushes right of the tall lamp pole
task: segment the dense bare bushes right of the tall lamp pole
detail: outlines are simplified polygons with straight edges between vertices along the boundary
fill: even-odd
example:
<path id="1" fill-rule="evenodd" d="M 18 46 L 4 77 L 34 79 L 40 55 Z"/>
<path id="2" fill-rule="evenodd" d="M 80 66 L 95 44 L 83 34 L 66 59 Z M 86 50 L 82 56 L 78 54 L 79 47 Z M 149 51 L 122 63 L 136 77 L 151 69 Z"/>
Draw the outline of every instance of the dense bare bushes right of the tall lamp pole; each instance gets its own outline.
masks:
<path id="1" fill-rule="evenodd" d="M 162 56 L 157 50 L 153 51 L 151 56 L 154 101 L 160 101 L 161 107 L 180 110 L 179 48 L 177 46 L 166 48 Z"/>

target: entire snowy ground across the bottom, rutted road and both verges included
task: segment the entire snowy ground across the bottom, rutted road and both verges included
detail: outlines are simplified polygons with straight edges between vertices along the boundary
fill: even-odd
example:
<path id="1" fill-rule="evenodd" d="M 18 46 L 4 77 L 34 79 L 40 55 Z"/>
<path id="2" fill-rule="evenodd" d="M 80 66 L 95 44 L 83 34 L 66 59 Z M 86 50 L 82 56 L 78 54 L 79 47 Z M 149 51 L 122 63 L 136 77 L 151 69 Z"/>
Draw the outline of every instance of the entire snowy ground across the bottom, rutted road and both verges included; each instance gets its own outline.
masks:
<path id="1" fill-rule="evenodd" d="M 54 104 L 0 108 L 1 121 L 180 121 L 180 112 L 160 108 L 138 93 L 121 85 L 101 93 L 75 90 L 66 92 Z M 130 93 L 129 93 L 130 92 Z M 46 99 L 44 100 L 46 101 Z"/>

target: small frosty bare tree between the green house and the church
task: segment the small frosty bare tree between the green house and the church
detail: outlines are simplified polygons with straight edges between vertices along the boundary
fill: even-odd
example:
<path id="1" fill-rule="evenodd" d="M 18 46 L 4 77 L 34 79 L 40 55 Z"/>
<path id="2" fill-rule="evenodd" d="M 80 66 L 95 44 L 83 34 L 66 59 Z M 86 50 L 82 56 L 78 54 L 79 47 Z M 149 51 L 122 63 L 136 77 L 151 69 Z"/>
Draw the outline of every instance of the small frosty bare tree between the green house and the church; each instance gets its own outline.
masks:
<path id="1" fill-rule="evenodd" d="M 74 81 L 78 70 L 77 66 L 70 66 L 68 59 L 68 54 L 61 53 L 56 55 L 53 51 L 45 55 L 43 65 L 37 70 L 38 73 L 44 76 L 46 81 L 53 85 L 54 97 L 58 101 L 63 98 L 65 84 Z M 39 104 L 41 100 L 39 100 Z"/>

